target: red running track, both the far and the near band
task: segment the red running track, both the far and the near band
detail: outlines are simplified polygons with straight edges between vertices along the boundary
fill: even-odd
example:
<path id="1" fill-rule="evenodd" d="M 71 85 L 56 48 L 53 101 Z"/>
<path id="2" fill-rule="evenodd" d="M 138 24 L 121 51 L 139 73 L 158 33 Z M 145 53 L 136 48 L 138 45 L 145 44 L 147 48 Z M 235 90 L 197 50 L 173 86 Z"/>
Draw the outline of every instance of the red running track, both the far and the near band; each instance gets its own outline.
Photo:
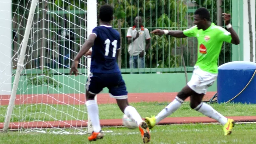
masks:
<path id="1" fill-rule="evenodd" d="M 204 100 L 209 100 L 216 92 L 208 92 Z M 128 101 L 131 103 L 136 102 L 171 102 L 177 93 L 137 93 L 128 94 Z M 186 100 L 188 101 L 189 98 Z M 9 95 L 0 95 L 0 105 L 8 105 Z M 17 95 L 15 104 L 65 104 L 65 105 L 84 105 L 84 94 L 39 94 L 39 95 Z M 116 100 L 110 98 L 108 94 L 97 95 L 98 104 L 114 104 Z M 236 122 L 254 122 L 256 116 L 232 116 L 230 117 Z M 209 117 L 168 117 L 160 122 L 163 124 L 188 124 L 188 123 L 214 123 L 217 122 Z M 0 128 L 3 128 L 3 123 L 0 123 Z M 34 122 L 14 122 L 10 123 L 9 128 L 51 128 L 51 127 L 86 127 L 86 120 L 67 120 L 67 121 L 34 121 Z M 122 126 L 122 119 L 102 119 L 101 126 Z"/>

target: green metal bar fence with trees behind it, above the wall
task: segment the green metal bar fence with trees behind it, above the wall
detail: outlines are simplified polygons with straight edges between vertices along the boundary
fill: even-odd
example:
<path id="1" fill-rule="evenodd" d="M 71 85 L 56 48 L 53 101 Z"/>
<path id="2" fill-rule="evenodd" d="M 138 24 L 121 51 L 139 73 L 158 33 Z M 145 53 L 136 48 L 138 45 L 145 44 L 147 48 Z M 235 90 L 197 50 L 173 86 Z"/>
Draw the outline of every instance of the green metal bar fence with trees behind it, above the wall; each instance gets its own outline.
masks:
<path id="1" fill-rule="evenodd" d="M 110 4 L 115 8 L 112 26 L 120 32 L 122 38 L 121 60 L 118 61 L 122 73 L 183 72 L 184 64 L 187 71 L 193 70 L 197 59 L 197 39 L 159 37 L 152 35 L 150 31 L 156 28 L 169 30 L 191 28 L 194 26 L 194 11 L 199 7 L 206 7 L 211 14 L 211 21 L 225 27 L 224 21 L 218 17 L 223 12 L 231 13 L 232 3 L 231 0 L 222 0 L 220 4 L 217 2 L 216 0 L 98 0 L 98 8 L 104 4 Z M 22 7 L 28 5 L 26 0 L 17 4 L 13 6 L 20 6 L 21 11 Z M 68 4 L 74 6 L 70 7 Z M 221 8 L 217 9 L 217 5 Z M 67 68 L 71 66 L 72 59 L 86 40 L 86 2 L 69 0 L 67 4 L 64 2 L 59 4 L 55 0 L 49 0 L 47 5 L 39 4 L 36 11 L 35 19 L 38 23 L 33 27 L 33 39 L 32 37 L 30 39 L 33 46 L 27 50 L 26 69 L 39 69 L 45 66 L 62 69 L 63 73 L 68 73 Z M 17 14 L 19 12 L 13 13 L 16 13 L 13 17 L 13 34 L 17 34 L 17 37 L 13 37 L 12 49 L 16 51 L 22 40 L 26 16 L 20 16 Z M 139 42 L 129 44 L 128 29 L 138 24 L 135 22 L 138 16 L 142 18 L 144 28 L 137 30 L 141 30 L 140 37 L 143 38 L 140 38 Z M 149 31 L 150 39 L 146 35 L 146 29 Z M 62 30 L 68 30 L 71 33 L 70 38 L 65 38 Z M 145 50 L 147 42 L 150 43 L 150 47 Z M 136 49 L 141 43 L 144 44 L 142 49 L 145 55 L 140 57 L 136 52 L 129 52 L 138 51 Z M 128 51 L 129 45 L 132 45 L 132 50 Z M 218 64 L 229 62 L 231 58 L 231 45 L 224 43 Z M 86 65 L 86 60 L 82 61 Z M 16 65 L 15 61 L 13 65 Z"/>

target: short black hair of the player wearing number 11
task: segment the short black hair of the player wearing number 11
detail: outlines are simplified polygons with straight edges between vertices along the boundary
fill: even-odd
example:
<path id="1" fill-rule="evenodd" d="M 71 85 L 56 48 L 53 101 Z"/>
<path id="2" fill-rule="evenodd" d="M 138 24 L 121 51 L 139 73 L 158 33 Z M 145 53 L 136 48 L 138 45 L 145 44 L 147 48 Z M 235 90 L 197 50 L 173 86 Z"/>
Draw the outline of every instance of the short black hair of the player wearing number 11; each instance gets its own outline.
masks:
<path id="1" fill-rule="evenodd" d="M 103 5 L 103 6 L 100 7 L 99 18 L 102 21 L 109 22 L 109 21 L 112 20 L 113 12 L 114 12 L 114 8 L 112 6 Z"/>

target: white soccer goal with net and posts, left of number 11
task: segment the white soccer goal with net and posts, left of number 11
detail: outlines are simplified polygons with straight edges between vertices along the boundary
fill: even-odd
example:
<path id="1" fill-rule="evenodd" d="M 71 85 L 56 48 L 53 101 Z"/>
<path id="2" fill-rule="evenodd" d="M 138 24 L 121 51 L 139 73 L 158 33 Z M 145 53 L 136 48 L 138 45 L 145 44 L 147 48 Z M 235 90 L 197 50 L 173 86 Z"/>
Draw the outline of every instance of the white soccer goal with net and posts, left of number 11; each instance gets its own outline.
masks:
<path id="1" fill-rule="evenodd" d="M 85 105 L 90 60 L 81 59 L 78 76 L 69 72 L 97 25 L 96 0 L 0 0 L 0 11 L 0 128 L 91 131 Z"/>

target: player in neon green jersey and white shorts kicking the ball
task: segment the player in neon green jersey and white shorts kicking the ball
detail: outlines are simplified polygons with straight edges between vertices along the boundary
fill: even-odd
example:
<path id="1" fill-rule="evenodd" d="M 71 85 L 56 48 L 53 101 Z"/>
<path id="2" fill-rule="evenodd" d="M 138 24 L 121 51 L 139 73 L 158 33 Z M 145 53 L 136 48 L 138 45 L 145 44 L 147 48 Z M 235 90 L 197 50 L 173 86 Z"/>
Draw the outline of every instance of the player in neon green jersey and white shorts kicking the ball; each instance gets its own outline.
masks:
<path id="1" fill-rule="evenodd" d="M 226 118 L 210 105 L 202 103 L 202 99 L 206 94 L 207 88 L 217 78 L 217 61 L 223 42 L 238 45 L 240 41 L 230 24 L 229 14 L 223 14 L 228 30 L 211 23 L 210 13 L 206 8 L 197 9 L 194 15 L 195 26 L 192 28 L 184 31 L 156 29 L 151 32 L 157 35 L 171 35 L 176 38 L 196 37 L 198 40 L 198 58 L 191 80 L 177 94 L 173 102 L 166 106 L 157 116 L 146 117 L 145 121 L 149 128 L 154 127 L 162 119 L 175 112 L 184 100 L 190 96 L 190 107 L 220 122 L 223 125 L 224 135 L 229 135 L 234 126 L 234 120 Z"/>

